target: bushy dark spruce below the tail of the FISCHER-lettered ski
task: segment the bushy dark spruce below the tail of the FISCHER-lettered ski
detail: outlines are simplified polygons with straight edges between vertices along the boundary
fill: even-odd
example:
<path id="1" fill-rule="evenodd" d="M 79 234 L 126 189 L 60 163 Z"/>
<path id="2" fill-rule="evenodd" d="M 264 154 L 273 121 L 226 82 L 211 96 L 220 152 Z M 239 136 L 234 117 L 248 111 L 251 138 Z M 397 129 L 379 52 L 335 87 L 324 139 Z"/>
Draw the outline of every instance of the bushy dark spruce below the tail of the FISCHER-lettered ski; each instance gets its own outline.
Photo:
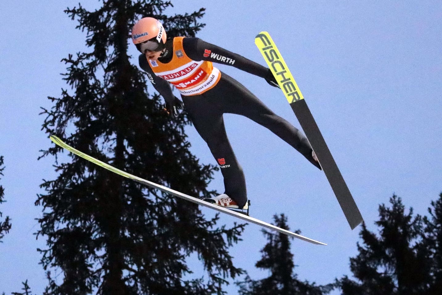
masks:
<path id="1" fill-rule="evenodd" d="M 359 254 L 350 259 L 357 281 L 344 276 L 337 281 L 343 295 L 423 295 L 429 284 L 430 261 L 422 244 L 423 220 L 405 212 L 400 198 L 390 198 L 391 207 L 379 206 L 379 235 L 362 224 Z"/>

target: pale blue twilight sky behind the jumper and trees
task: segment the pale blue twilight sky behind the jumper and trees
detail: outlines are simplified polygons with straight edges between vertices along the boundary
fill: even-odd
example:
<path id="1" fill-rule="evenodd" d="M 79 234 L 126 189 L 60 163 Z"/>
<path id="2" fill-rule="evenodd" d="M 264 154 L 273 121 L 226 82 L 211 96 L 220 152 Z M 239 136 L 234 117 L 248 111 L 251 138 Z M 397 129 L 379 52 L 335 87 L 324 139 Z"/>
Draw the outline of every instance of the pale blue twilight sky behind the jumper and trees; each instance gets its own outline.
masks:
<path id="1" fill-rule="evenodd" d="M 93 9 L 98 0 L 80 1 Z M 255 35 L 268 31 L 289 65 L 325 140 L 371 230 L 377 230 L 380 203 L 393 193 L 406 207 L 426 214 L 442 191 L 442 2 L 374 1 L 173 1 L 168 13 L 205 7 L 206 27 L 198 37 L 265 65 Z M 63 10 L 78 1 L 3 0 L 0 3 L 0 155 L 6 169 L 0 184 L 8 200 L 0 211 L 12 230 L 0 244 L 0 292 L 10 294 L 28 279 L 41 294 L 45 272 L 38 264 L 46 239 L 35 239 L 36 194 L 42 179 L 53 179 L 53 158 L 37 161 L 52 145 L 40 128 L 40 107 L 47 96 L 66 88 L 60 62 L 85 50 L 85 33 Z M 130 54 L 137 51 L 130 47 Z M 282 92 L 265 80 L 220 66 L 278 115 L 300 128 Z M 150 91 L 152 87 L 149 84 Z M 300 280 L 331 283 L 350 275 L 349 257 L 357 254 L 359 229 L 347 224 L 322 172 L 262 126 L 237 115 L 225 125 L 243 166 L 251 215 L 272 222 L 285 213 L 292 230 L 328 246 L 294 240 L 295 272 Z M 215 164 L 193 127 L 187 130 L 193 153 Z M 221 173 L 210 188 L 222 192 Z M 203 209 L 213 215 L 210 209 Z M 221 222 L 232 224 L 233 217 Z M 221 223 L 220 223 L 221 225 Z M 253 279 L 266 243 L 260 228 L 249 225 L 244 241 L 231 248 L 236 266 Z M 195 275 L 200 264 L 191 257 Z M 54 273 L 54 272 L 53 272 Z M 62 276 L 59 277 L 61 282 Z M 236 294 L 236 287 L 229 287 Z M 335 291 L 333 294 L 339 294 Z"/>

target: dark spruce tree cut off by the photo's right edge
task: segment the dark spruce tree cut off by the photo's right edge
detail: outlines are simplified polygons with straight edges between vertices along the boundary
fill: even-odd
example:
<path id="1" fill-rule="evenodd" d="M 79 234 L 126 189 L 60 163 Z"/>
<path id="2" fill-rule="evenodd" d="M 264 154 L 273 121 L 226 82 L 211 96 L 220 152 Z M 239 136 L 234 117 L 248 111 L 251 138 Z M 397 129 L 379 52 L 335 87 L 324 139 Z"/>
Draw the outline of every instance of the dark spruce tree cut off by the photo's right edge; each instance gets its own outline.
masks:
<path id="1" fill-rule="evenodd" d="M 428 250 L 427 258 L 431 261 L 428 272 L 430 287 L 428 295 L 439 295 L 442 290 L 442 193 L 437 201 L 431 202 L 428 208 L 430 218 L 424 217 L 425 235 L 423 248 Z"/>

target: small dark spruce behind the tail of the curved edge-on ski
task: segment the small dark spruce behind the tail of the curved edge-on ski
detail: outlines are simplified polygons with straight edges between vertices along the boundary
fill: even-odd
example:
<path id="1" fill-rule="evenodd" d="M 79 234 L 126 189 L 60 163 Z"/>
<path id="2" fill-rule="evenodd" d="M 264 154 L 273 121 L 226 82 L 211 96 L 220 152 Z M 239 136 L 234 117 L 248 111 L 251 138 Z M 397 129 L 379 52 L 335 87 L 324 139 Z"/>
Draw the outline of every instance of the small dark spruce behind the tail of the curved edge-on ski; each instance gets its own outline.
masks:
<path id="1" fill-rule="evenodd" d="M 284 214 L 274 215 L 274 225 L 289 230 Z M 293 254 L 290 252 L 290 240 L 286 234 L 262 230 L 268 243 L 261 249 L 261 260 L 255 266 L 267 269 L 270 276 L 262 280 L 252 280 L 246 276 L 240 286 L 240 295 L 322 295 L 331 290 L 331 286 L 316 286 L 308 281 L 301 282 L 293 274 Z M 299 230 L 297 234 L 301 233 Z"/>

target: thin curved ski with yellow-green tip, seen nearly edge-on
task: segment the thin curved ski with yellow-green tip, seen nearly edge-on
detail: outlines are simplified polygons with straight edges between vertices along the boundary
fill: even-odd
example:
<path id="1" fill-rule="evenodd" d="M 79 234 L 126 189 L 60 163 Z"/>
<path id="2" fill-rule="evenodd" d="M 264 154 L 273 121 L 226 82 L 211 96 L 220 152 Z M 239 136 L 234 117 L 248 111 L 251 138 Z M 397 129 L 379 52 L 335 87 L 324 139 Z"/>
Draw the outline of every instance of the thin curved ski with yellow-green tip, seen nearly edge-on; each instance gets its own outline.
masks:
<path id="1" fill-rule="evenodd" d="M 141 184 L 145 184 L 145 185 L 147 185 L 147 186 L 149 186 L 151 188 L 157 188 L 157 189 L 159 189 L 162 192 L 174 195 L 174 196 L 179 197 L 181 199 L 185 199 L 185 200 L 190 201 L 192 203 L 195 203 L 195 204 L 198 204 L 198 205 L 202 205 L 202 206 L 205 206 L 205 207 L 209 207 L 209 208 L 211 208 L 213 210 L 216 210 L 216 211 L 219 211 L 219 212 L 231 215 L 231 216 L 235 216 L 235 217 L 243 219 L 243 220 L 245 220 L 247 222 L 255 223 L 255 224 L 259 225 L 259 226 L 263 226 L 263 227 L 265 227 L 267 229 L 270 229 L 270 230 L 278 231 L 278 232 L 280 232 L 282 234 L 286 234 L 286 235 L 288 235 L 290 237 L 293 237 L 293 238 L 297 238 L 297 239 L 300 239 L 300 240 L 303 240 L 303 241 L 307 241 L 309 243 L 316 244 L 316 245 L 327 245 L 327 244 L 324 244 L 324 243 L 322 243 L 320 241 L 312 240 L 310 238 L 306 238 L 304 236 L 301 236 L 300 234 L 295 234 L 295 233 L 293 233 L 293 232 L 291 232 L 289 230 L 284 230 L 284 229 L 282 229 L 282 228 L 280 228 L 278 226 L 274 226 L 273 224 L 270 224 L 270 223 L 267 223 L 267 222 L 263 222 L 263 221 L 261 221 L 259 219 L 256 219 L 256 218 L 244 215 L 242 213 L 239 213 L 239 212 L 236 212 L 236 211 L 232 211 L 232 210 L 226 209 L 224 207 L 208 203 L 208 202 L 203 201 L 201 199 L 192 197 L 190 195 L 183 194 L 182 192 L 175 191 L 175 190 L 173 190 L 171 188 L 167 188 L 167 187 L 162 186 L 160 184 L 156 184 L 156 183 L 154 183 L 152 181 L 145 180 L 145 179 L 140 178 L 138 176 L 132 175 L 132 174 L 127 173 L 127 172 L 124 172 L 124 171 L 122 171 L 120 169 L 117 169 L 117 168 L 115 168 L 115 167 L 113 167 L 113 166 L 111 166 L 109 164 L 104 163 L 103 161 L 95 159 L 94 157 L 91 157 L 88 154 L 80 152 L 78 149 L 74 149 L 72 146 L 69 146 L 68 144 L 63 142 L 60 138 L 58 138 L 57 136 L 51 135 L 50 139 L 57 146 L 61 146 L 62 148 L 69 150 L 71 153 L 74 153 L 77 156 L 80 156 L 80 157 L 82 157 L 82 158 L 84 158 L 84 159 L 86 159 L 88 161 L 91 161 L 92 163 L 94 163 L 96 165 L 99 165 L 99 166 L 101 166 L 101 167 L 103 167 L 103 168 L 105 168 L 107 170 L 110 170 L 110 171 L 112 171 L 114 173 L 117 173 L 117 174 L 119 174 L 121 176 L 130 178 L 130 179 L 135 180 L 135 181 L 137 181 L 137 182 L 139 182 Z"/>

